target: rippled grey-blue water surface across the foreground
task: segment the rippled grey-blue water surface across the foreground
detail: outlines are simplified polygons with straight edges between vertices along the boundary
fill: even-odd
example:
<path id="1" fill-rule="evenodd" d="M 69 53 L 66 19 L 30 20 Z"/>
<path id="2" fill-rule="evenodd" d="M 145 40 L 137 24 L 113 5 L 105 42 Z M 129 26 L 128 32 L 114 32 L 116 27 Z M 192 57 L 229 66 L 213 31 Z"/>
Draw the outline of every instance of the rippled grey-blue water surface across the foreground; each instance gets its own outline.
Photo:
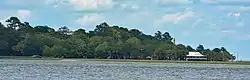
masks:
<path id="1" fill-rule="evenodd" d="M 249 65 L 0 60 L 0 80 L 250 80 Z"/>

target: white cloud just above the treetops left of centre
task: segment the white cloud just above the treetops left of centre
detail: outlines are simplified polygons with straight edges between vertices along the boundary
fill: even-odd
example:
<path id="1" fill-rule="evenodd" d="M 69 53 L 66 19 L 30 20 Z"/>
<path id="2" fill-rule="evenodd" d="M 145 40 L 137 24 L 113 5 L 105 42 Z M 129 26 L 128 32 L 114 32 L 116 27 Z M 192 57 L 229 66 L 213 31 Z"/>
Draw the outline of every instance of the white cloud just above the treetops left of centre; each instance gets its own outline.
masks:
<path id="1" fill-rule="evenodd" d="M 104 22 L 104 18 L 99 14 L 86 14 L 76 20 L 76 23 L 83 26 L 94 26 Z"/>

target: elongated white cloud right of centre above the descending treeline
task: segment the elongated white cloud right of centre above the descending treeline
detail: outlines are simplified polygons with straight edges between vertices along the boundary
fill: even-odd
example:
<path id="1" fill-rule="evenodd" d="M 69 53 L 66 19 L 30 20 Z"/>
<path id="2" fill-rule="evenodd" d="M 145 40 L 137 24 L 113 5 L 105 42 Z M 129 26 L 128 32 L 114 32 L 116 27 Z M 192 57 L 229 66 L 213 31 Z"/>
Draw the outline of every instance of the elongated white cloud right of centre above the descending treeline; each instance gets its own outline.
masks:
<path id="1" fill-rule="evenodd" d="M 193 11 L 187 11 L 187 12 L 179 12 L 179 13 L 172 13 L 172 14 L 165 14 L 162 17 L 162 21 L 164 22 L 173 22 L 174 24 L 187 20 L 189 18 L 194 17 Z"/>

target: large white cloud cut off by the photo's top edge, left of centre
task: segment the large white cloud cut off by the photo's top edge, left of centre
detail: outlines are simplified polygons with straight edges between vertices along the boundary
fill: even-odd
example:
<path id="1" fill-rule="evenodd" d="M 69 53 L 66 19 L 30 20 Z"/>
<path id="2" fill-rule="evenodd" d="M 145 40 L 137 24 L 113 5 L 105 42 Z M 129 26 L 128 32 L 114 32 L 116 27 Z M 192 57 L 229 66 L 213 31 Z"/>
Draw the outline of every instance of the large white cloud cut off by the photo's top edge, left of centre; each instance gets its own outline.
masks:
<path id="1" fill-rule="evenodd" d="M 77 10 L 99 10 L 112 8 L 113 0 L 70 0 Z"/>

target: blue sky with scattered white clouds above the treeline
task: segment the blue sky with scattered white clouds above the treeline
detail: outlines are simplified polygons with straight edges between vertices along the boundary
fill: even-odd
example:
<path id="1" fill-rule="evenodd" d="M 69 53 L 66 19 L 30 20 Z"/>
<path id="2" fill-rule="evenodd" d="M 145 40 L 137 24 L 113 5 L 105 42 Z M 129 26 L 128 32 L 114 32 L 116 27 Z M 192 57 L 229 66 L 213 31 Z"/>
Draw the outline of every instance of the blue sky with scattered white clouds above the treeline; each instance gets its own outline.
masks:
<path id="1" fill-rule="evenodd" d="M 250 0 L 0 0 L 0 22 L 19 17 L 32 26 L 93 30 L 107 22 L 176 43 L 222 47 L 250 61 Z"/>

